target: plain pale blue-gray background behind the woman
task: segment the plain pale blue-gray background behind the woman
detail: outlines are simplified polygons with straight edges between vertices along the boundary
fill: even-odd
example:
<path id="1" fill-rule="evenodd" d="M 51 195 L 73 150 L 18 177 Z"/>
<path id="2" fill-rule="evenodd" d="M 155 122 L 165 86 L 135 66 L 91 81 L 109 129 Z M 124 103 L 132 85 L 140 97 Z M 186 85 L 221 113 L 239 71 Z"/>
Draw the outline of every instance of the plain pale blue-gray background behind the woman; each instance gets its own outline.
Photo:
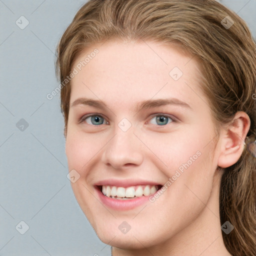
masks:
<path id="1" fill-rule="evenodd" d="M 85 2 L 0 0 L 2 256 L 110 255 L 110 246 L 97 238 L 66 177 L 59 94 L 46 98 L 58 85 L 56 44 Z M 245 19 L 255 38 L 256 0 L 221 2 Z M 24 29 L 20 16 L 29 22 Z M 29 226 L 24 234 L 21 220 Z"/>

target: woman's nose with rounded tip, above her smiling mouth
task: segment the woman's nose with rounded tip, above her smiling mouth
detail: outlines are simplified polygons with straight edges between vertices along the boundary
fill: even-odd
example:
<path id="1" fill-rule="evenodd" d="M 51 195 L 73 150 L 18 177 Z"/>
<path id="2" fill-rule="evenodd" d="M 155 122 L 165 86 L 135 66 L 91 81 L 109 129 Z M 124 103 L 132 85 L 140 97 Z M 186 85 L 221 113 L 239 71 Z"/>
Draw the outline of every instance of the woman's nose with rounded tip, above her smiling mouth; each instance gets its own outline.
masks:
<path id="1" fill-rule="evenodd" d="M 127 131 L 116 127 L 114 136 L 105 145 L 102 162 L 114 169 L 140 165 L 143 161 L 140 140 L 133 133 L 133 126 Z"/>

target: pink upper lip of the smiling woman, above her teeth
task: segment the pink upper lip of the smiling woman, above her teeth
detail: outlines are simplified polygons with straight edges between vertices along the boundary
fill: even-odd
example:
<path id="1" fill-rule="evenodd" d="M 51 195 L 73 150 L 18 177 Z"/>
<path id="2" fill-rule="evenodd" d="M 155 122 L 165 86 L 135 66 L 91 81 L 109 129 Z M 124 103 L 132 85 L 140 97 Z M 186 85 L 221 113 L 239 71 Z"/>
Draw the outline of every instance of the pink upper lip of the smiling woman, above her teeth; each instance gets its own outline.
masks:
<path id="1" fill-rule="evenodd" d="M 144 180 L 144 179 L 104 179 L 96 182 L 95 186 L 102 186 L 102 185 L 110 185 L 110 186 L 136 186 L 136 185 L 160 185 L 160 183 L 151 181 L 151 180 Z"/>

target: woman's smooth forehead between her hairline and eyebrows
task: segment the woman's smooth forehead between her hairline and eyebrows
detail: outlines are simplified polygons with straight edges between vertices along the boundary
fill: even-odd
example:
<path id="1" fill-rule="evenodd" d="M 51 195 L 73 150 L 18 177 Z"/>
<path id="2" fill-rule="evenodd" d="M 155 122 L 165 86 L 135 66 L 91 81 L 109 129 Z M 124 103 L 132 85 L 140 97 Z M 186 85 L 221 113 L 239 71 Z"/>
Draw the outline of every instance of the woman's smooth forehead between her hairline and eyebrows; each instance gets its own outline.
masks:
<path id="1" fill-rule="evenodd" d="M 72 68 L 77 74 L 70 102 L 82 96 L 116 104 L 171 96 L 192 103 L 196 94 L 203 97 L 198 62 L 177 45 L 109 40 L 84 49 Z"/>

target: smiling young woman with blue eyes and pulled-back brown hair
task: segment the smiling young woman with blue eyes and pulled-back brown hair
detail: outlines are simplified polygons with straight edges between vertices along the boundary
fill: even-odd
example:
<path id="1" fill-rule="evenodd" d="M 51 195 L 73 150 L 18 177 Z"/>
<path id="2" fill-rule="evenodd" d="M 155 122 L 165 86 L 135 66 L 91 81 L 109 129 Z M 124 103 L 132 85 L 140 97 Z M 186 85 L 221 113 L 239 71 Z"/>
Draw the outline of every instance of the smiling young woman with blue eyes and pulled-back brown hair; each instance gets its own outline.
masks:
<path id="1" fill-rule="evenodd" d="M 90 0 L 57 50 L 72 189 L 112 255 L 254 255 L 245 22 L 214 0 Z"/>

